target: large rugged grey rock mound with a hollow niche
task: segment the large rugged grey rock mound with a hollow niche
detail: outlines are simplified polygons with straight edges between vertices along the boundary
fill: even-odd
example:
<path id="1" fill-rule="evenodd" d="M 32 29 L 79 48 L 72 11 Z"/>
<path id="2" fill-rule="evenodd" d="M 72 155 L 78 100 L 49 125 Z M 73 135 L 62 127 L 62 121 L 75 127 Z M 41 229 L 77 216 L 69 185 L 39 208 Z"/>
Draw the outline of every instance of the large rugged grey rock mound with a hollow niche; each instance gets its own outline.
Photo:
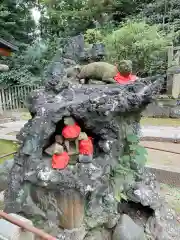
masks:
<path id="1" fill-rule="evenodd" d="M 127 132 L 138 134 L 141 112 L 161 79 L 123 86 L 56 80 L 27 99 L 32 119 L 17 136 L 22 144 L 9 174 L 5 211 L 40 219 L 57 239 L 179 240 L 176 215 L 159 195 L 155 176 L 134 160 L 120 161 L 129 148 Z M 44 148 L 52 139 L 62 144 L 57 136 L 67 116 L 93 138 L 93 161 L 56 170 Z M 116 168 L 128 172 L 116 179 Z M 126 200 L 117 199 L 113 179 Z"/>

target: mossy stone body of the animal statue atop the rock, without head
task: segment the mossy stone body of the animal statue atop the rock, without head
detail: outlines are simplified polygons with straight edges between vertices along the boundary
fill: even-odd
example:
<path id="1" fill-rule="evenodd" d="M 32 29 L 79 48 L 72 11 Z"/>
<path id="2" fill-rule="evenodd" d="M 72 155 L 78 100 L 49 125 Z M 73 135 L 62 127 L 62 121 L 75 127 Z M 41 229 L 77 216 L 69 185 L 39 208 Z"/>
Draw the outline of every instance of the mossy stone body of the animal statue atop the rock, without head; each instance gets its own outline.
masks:
<path id="1" fill-rule="evenodd" d="M 110 63 L 93 62 L 83 66 L 77 77 L 79 80 L 84 79 L 85 84 L 88 84 L 90 79 L 100 80 L 105 83 L 116 83 L 113 78 L 117 73 L 117 67 Z"/>

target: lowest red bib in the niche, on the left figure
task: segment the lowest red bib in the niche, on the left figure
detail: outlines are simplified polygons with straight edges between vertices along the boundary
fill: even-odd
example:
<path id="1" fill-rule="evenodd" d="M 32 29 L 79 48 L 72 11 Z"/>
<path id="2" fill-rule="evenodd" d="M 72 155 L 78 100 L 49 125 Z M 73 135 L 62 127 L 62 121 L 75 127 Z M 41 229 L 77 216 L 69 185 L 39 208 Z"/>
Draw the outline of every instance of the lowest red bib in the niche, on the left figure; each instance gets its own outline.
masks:
<path id="1" fill-rule="evenodd" d="M 52 168 L 55 169 L 64 169 L 69 163 L 70 157 L 67 152 L 61 154 L 54 154 L 52 156 Z"/>

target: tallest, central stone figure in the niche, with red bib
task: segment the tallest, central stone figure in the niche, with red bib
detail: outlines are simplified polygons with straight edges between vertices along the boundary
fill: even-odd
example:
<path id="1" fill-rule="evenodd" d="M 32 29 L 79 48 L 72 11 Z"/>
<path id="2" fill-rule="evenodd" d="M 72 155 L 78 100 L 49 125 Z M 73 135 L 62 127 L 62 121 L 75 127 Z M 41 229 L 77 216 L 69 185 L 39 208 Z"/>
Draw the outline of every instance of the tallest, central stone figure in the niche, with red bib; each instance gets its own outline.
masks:
<path id="1" fill-rule="evenodd" d="M 81 132 L 81 128 L 72 117 L 65 117 L 64 124 L 65 127 L 62 130 L 62 136 L 64 137 L 66 151 L 69 155 L 78 154 L 78 137 Z"/>

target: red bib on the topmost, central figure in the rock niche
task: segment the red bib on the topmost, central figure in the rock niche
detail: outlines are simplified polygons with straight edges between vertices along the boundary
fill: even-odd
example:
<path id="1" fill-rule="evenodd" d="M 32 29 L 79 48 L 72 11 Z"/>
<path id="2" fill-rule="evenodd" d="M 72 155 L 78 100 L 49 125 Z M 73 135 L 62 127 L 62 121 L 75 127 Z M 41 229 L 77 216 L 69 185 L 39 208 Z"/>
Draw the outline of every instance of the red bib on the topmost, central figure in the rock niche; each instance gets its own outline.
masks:
<path id="1" fill-rule="evenodd" d="M 62 130 L 62 135 L 64 138 L 77 138 L 81 132 L 81 128 L 78 126 L 77 123 L 74 125 L 67 125 Z"/>

